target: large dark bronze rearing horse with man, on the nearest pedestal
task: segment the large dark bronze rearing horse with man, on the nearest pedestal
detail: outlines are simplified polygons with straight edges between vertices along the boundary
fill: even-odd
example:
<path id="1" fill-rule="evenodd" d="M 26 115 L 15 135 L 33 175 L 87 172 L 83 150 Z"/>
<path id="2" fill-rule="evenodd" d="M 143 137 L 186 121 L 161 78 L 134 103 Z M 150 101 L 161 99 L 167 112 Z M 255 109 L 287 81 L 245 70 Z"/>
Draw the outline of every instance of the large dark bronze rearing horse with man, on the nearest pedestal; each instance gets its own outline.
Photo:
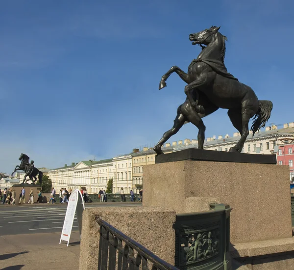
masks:
<path id="1" fill-rule="evenodd" d="M 253 135 L 270 118 L 272 103 L 267 100 L 258 100 L 254 91 L 241 83 L 227 72 L 224 65 L 226 37 L 219 32 L 220 27 L 210 27 L 201 32 L 190 34 L 192 45 L 202 47 L 201 53 L 194 59 L 185 73 L 177 66 L 162 76 L 159 90 L 167 86 L 166 80 L 175 72 L 187 83 L 186 101 L 177 109 L 173 127 L 165 132 L 153 148 L 157 155 L 163 154 L 162 145 L 187 122 L 198 128 L 198 148 L 203 149 L 205 126 L 201 118 L 211 114 L 218 108 L 227 108 L 228 116 L 233 126 L 240 132 L 241 138 L 230 148 L 230 152 L 241 152 L 245 139 L 249 134 L 248 123 L 254 116 L 251 127 Z M 206 45 L 203 46 L 203 45 Z"/>

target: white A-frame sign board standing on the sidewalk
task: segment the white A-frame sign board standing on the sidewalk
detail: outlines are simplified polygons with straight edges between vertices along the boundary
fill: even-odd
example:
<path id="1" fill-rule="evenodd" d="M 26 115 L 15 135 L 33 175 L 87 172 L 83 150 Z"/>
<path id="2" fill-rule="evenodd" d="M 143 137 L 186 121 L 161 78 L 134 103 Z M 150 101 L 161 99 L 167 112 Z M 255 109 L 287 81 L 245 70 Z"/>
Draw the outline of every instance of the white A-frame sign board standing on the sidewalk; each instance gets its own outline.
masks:
<path id="1" fill-rule="evenodd" d="M 63 240 L 67 241 L 67 246 L 69 246 L 75 212 L 77 216 L 78 230 L 81 235 L 82 214 L 84 210 L 85 204 L 83 195 L 80 190 L 74 189 L 69 199 L 59 244 L 61 244 L 61 241 Z"/>

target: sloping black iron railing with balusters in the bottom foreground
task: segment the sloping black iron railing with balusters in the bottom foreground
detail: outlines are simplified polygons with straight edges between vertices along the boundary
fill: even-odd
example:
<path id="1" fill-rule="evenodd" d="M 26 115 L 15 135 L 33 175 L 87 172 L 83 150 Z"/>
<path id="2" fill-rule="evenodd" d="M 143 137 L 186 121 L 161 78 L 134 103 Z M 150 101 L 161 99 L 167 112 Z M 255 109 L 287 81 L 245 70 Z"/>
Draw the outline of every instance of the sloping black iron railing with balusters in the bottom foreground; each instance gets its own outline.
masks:
<path id="1" fill-rule="evenodd" d="M 106 221 L 100 225 L 98 270 L 178 270 Z"/>

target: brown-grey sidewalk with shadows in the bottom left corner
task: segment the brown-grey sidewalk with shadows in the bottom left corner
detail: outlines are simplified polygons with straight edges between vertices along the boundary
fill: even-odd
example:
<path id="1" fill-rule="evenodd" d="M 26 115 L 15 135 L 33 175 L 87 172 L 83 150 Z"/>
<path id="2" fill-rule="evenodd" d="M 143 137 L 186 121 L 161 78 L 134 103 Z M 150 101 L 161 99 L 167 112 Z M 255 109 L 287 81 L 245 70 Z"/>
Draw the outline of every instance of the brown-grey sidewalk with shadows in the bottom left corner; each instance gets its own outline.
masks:
<path id="1" fill-rule="evenodd" d="M 69 246 L 61 232 L 0 236 L 1 270 L 78 269 L 80 238 L 73 231 Z"/>

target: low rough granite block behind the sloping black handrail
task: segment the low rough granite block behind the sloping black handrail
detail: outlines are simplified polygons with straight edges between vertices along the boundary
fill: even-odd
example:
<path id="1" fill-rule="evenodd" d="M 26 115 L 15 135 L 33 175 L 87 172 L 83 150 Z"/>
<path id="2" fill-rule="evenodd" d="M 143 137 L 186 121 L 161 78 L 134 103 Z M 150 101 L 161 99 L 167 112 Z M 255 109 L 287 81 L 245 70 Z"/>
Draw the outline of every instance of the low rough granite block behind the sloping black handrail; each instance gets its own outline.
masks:
<path id="1" fill-rule="evenodd" d="M 174 264 L 175 212 L 163 207 L 103 207 L 83 212 L 79 270 L 98 269 L 100 217 L 142 244 L 159 258 Z"/>

